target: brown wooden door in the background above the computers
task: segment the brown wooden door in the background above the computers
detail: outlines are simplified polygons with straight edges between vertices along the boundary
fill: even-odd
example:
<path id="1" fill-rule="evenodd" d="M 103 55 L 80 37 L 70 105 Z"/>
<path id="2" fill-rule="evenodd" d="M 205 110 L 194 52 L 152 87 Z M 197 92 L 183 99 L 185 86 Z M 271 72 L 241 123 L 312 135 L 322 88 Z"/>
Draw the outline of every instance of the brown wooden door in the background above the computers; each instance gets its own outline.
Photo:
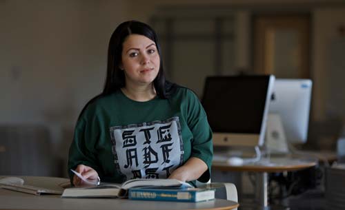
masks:
<path id="1" fill-rule="evenodd" d="M 254 69 L 277 78 L 310 78 L 310 17 L 253 16 Z"/>

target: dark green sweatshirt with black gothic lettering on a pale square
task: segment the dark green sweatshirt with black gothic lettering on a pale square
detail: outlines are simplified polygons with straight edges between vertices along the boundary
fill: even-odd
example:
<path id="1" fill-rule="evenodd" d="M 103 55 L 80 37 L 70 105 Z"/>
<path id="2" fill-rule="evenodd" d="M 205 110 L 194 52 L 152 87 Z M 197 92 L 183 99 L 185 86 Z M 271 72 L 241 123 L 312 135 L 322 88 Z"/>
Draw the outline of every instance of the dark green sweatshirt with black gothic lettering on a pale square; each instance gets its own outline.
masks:
<path id="1" fill-rule="evenodd" d="M 132 101 L 121 90 L 86 107 L 75 127 L 68 170 L 83 164 L 105 182 L 132 178 L 167 178 L 190 157 L 208 166 L 212 131 L 197 96 L 185 87 L 169 99 Z M 70 174 L 70 178 L 72 178 Z"/>

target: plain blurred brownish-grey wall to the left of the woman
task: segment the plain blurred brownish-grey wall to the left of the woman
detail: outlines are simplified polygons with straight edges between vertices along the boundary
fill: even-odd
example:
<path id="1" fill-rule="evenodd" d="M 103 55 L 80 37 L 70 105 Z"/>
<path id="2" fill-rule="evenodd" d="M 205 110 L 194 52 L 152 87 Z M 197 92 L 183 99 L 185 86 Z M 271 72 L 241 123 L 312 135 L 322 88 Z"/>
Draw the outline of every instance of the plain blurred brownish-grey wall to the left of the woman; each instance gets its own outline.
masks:
<path id="1" fill-rule="evenodd" d="M 101 91 L 124 1 L 1 1 L 0 123 L 66 122 Z"/>

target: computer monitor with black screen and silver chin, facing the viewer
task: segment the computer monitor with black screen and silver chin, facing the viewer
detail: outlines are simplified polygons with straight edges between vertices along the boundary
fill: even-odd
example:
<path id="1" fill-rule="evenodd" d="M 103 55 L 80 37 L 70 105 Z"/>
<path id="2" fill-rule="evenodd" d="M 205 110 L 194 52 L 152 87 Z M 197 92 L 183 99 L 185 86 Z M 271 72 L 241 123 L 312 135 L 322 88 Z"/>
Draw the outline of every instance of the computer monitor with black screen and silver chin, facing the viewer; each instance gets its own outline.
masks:
<path id="1" fill-rule="evenodd" d="M 201 100 L 216 146 L 263 145 L 275 77 L 210 76 Z"/>

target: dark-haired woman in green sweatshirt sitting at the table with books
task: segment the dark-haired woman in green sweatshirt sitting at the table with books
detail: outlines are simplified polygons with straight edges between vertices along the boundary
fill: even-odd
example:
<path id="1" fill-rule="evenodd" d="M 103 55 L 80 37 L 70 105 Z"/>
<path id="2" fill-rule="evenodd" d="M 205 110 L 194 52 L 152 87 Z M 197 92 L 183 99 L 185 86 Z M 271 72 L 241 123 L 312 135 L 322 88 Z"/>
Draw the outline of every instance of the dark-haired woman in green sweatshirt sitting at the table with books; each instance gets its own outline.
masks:
<path id="1" fill-rule="evenodd" d="M 105 182 L 207 182 L 212 156 L 206 113 L 192 91 L 165 80 L 156 33 L 145 23 L 121 23 L 110 38 L 104 90 L 77 121 L 68 168 Z"/>

